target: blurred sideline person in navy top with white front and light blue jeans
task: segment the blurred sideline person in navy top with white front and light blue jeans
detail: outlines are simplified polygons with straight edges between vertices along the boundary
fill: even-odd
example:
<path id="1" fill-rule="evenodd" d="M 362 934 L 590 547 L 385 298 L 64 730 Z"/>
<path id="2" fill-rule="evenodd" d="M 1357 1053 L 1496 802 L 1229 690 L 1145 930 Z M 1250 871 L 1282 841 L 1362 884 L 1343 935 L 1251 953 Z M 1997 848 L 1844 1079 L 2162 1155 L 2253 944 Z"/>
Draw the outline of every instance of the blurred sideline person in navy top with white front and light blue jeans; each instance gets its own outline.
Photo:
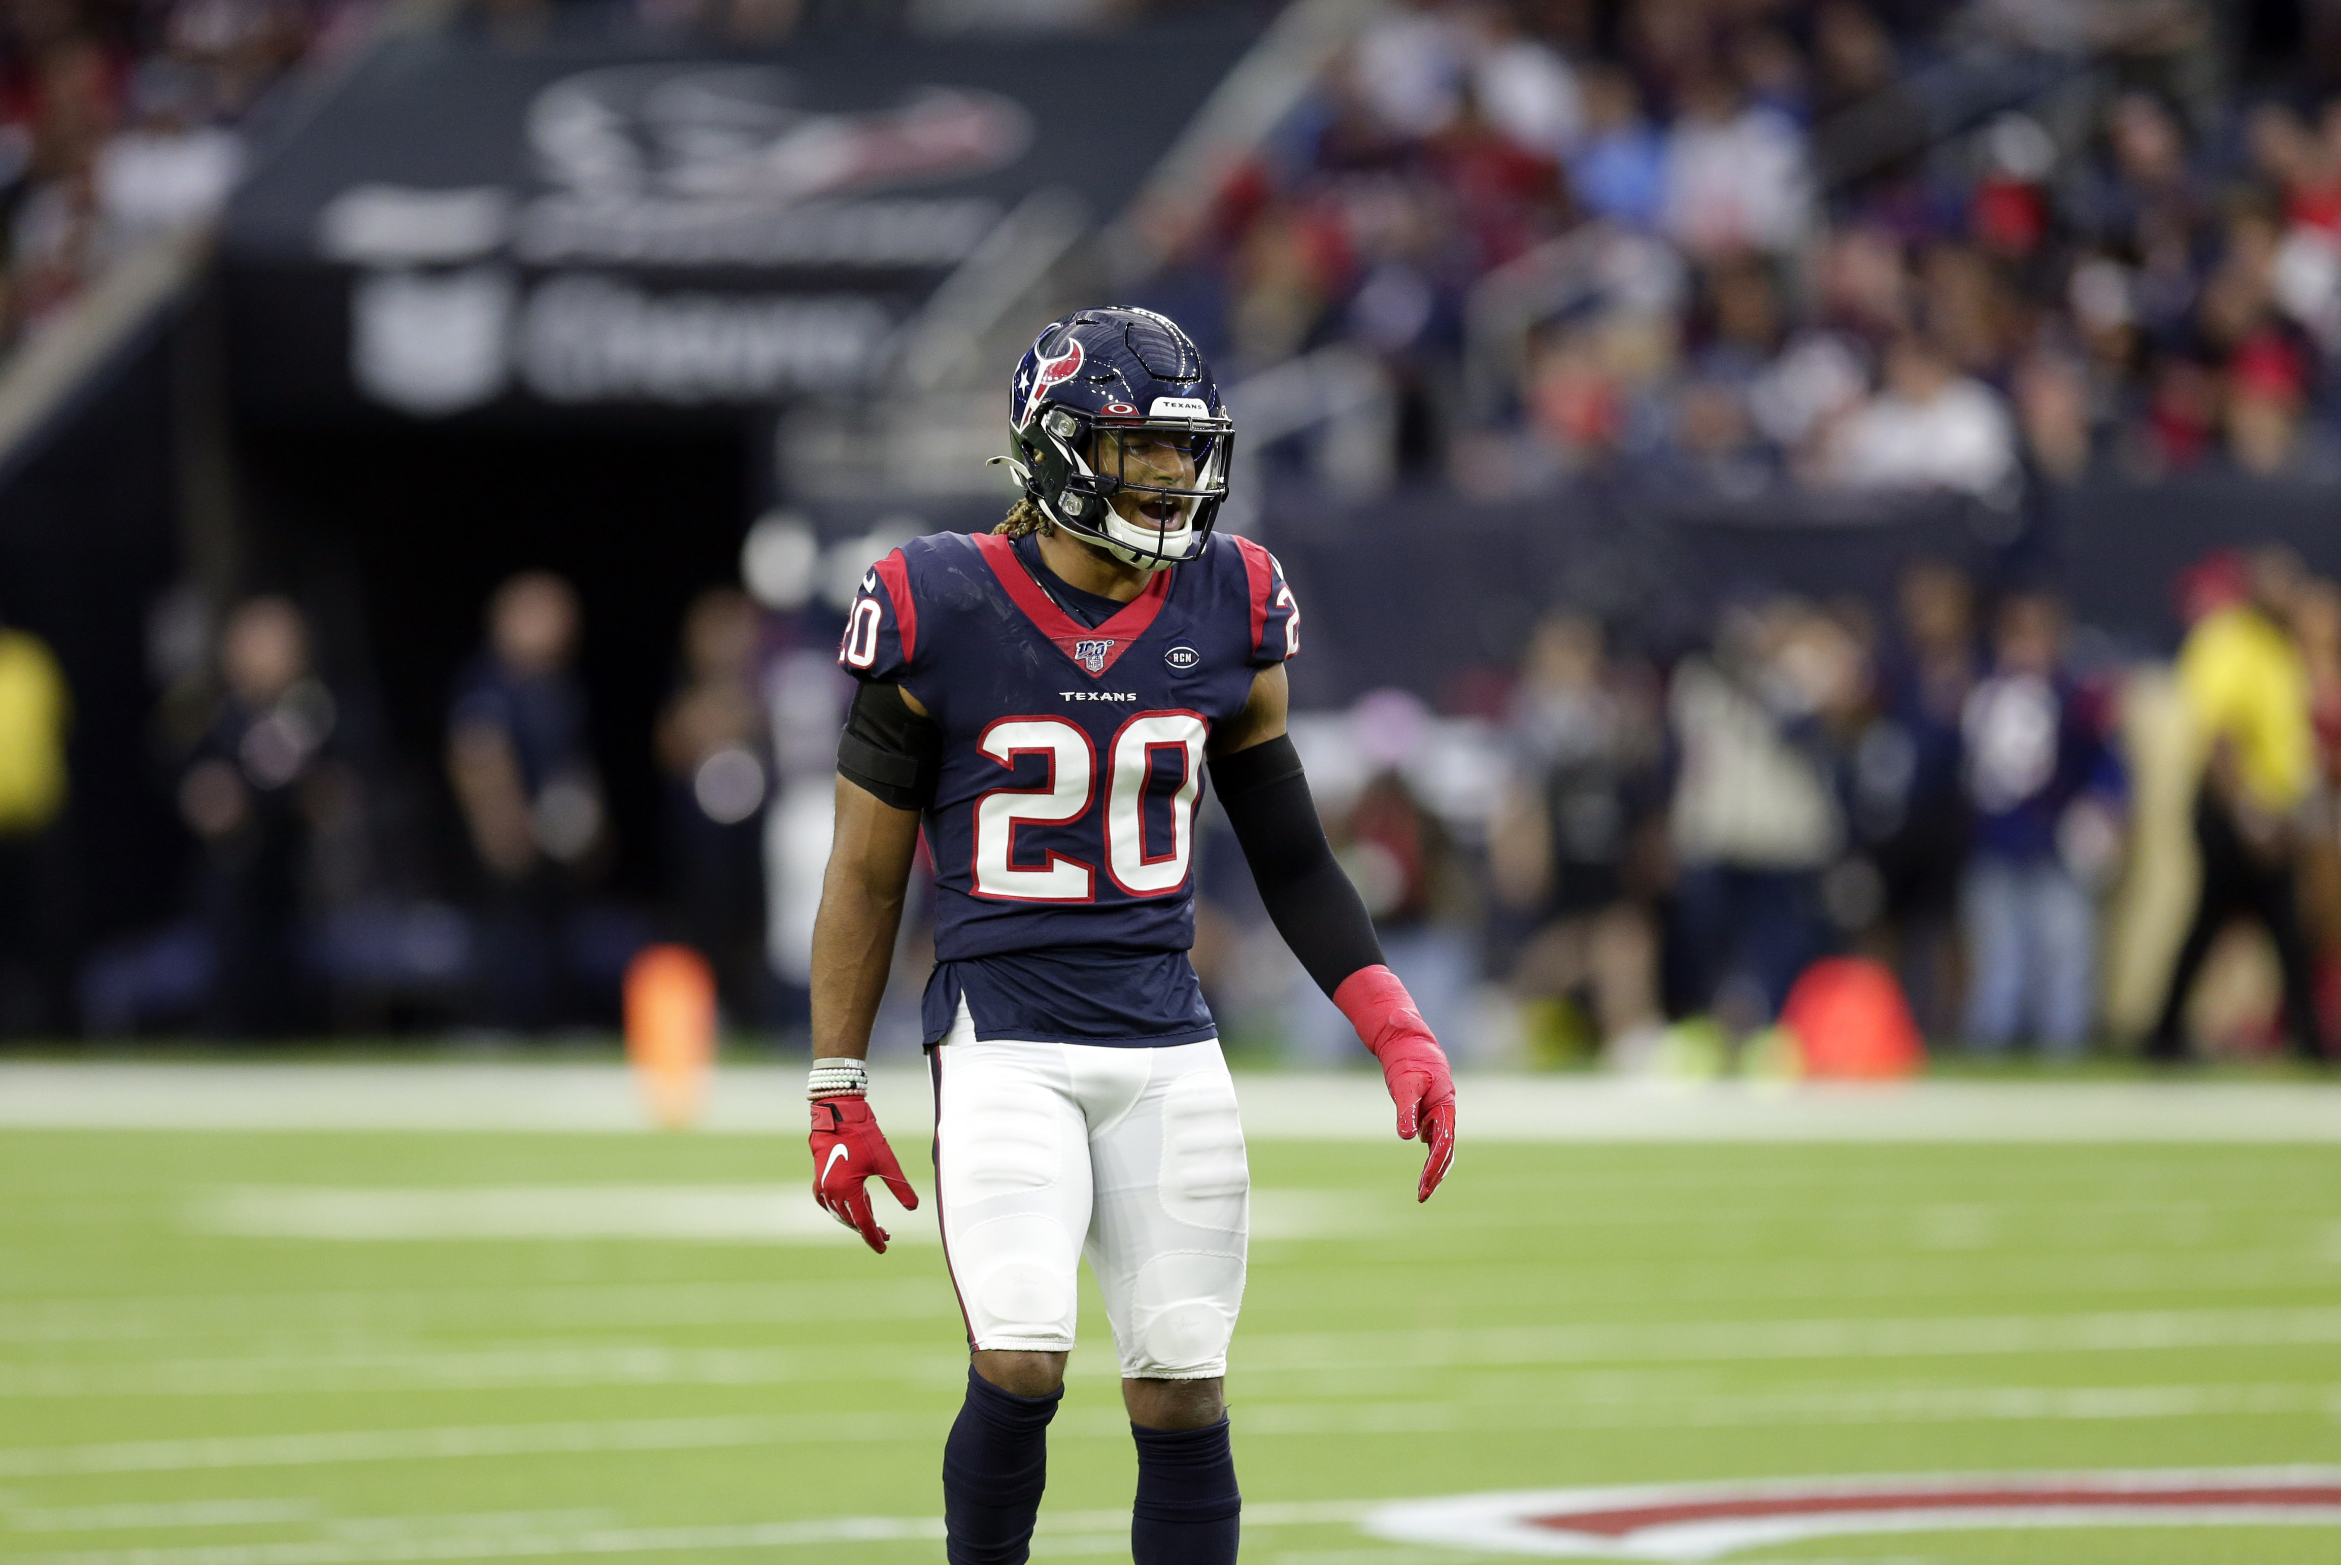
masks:
<path id="1" fill-rule="evenodd" d="M 1962 889 L 1966 1043 L 1999 1053 L 2088 1046 L 2098 999 L 2098 889 L 2121 852 L 2119 774 L 2062 667 L 2062 608 L 2002 601 L 1992 674 L 1966 697 L 1976 847 Z"/>

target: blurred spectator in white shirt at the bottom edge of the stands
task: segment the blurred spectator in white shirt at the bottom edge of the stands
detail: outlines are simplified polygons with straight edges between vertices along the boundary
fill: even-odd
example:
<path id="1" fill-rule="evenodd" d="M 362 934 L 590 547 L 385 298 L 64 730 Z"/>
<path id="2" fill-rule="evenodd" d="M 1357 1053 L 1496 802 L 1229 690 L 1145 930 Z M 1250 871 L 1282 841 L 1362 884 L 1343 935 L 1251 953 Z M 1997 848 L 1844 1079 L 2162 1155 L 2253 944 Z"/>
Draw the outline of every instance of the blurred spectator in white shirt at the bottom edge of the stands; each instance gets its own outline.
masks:
<path id="1" fill-rule="evenodd" d="M 1999 398 L 1962 377 L 1924 337 L 1887 349 L 1885 386 L 1838 430 L 1831 475 L 1852 489 L 1999 494 L 2016 473 L 2016 437 Z"/>

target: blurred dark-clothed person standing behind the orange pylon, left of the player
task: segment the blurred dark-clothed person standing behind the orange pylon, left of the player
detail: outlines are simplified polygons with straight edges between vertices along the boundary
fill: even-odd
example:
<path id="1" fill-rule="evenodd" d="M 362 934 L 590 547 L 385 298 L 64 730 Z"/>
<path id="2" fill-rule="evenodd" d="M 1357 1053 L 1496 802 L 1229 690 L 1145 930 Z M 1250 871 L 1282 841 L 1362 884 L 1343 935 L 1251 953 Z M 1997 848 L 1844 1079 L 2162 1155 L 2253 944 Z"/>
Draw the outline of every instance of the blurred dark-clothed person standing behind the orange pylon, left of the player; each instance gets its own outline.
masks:
<path id="1" fill-rule="evenodd" d="M 744 592 L 702 592 L 684 615 L 684 681 L 658 718 L 681 936 L 714 966 L 733 1025 L 754 1025 L 766 1011 L 770 737 L 756 697 L 756 604 Z"/>

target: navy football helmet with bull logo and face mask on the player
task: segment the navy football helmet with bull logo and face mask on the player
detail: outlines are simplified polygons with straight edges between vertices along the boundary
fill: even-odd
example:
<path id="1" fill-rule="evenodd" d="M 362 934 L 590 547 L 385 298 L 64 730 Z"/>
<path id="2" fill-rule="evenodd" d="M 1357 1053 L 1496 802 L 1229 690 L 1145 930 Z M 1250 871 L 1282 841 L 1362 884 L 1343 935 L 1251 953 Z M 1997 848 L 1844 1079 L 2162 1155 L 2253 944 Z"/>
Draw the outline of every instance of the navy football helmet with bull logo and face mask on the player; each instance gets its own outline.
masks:
<path id="1" fill-rule="evenodd" d="M 1194 339 L 1152 309 L 1051 320 L 1016 365 L 995 456 L 1067 533 L 1140 571 L 1203 552 L 1236 423 Z"/>

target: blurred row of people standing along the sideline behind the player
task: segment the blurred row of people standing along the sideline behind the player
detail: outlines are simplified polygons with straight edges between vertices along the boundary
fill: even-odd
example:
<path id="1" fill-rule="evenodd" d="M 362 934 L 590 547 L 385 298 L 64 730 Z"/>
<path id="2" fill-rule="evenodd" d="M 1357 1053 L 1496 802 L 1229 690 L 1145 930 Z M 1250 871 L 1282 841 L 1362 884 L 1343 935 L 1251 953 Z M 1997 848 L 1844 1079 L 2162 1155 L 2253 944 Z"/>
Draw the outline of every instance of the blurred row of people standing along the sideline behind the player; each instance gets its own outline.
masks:
<path id="1" fill-rule="evenodd" d="M 590 627 L 562 578 L 515 575 L 487 608 L 447 692 L 438 837 L 379 721 L 316 667 L 302 611 L 258 597 L 157 737 L 199 844 L 187 917 L 75 968 L 73 889 L 47 868 L 66 692 L 33 636 L 0 632 L 0 1018 L 98 1036 L 590 1029 L 634 952 L 672 938 L 709 957 L 735 1029 L 796 1034 L 845 681 L 791 529 L 751 540 L 768 604 L 714 590 L 686 618 L 646 735 L 655 905 L 609 884 L 576 674 Z M 1496 718 L 1381 690 L 1295 735 L 1393 966 L 1465 1055 L 1730 1046 L 1812 961 L 1852 952 L 1899 973 L 1929 1036 L 1973 1050 L 2076 1057 L 2119 1034 L 2170 1060 L 2196 1036 L 2322 1057 L 2341 1025 L 2341 585 L 2261 550 L 2210 554 L 2177 590 L 2175 667 L 2093 653 L 2053 597 L 1983 594 L 1941 561 L 1908 566 L 1885 618 L 1737 597 L 1664 664 L 1564 608 Z M 1196 964 L 1222 1022 L 1341 1057 L 1337 1013 L 1238 866 L 1208 830 Z M 906 1046 L 915 1015 L 890 1027 Z"/>

